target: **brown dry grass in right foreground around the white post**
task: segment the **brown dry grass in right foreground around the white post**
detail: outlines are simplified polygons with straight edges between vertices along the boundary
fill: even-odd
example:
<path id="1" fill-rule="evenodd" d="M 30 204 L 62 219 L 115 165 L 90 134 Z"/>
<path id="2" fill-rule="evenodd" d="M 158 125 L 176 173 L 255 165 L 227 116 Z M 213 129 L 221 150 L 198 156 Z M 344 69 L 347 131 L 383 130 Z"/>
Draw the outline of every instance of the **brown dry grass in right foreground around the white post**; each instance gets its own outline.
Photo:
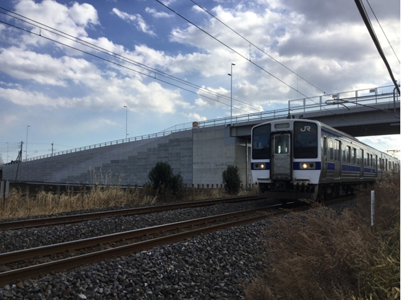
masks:
<path id="1" fill-rule="evenodd" d="M 400 175 L 370 189 L 341 215 L 317 206 L 271 221 L 263 275 L 245 288 L 247 299 L 400 299 Z"/>

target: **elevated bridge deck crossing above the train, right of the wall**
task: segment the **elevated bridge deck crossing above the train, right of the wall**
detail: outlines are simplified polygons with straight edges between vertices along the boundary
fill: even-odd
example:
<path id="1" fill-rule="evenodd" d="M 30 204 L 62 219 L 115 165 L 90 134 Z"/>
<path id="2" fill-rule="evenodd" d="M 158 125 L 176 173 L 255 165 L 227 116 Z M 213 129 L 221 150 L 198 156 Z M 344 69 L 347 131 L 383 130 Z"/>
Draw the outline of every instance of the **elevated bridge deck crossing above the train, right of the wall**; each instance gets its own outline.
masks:
<path id="1" fill-rule="evenodd" d="M 305 101 L 304 101 L 305 103 Z M 231 136 L 250 138 L 251 128 L 267 120 L 299 118 L 318 120 L 351 136 L 400 134 L 400 98 L 393 94 L 327 100 L 314 105 L 292 105 L 271 118 L 245 120 L 227 124 Z"/>

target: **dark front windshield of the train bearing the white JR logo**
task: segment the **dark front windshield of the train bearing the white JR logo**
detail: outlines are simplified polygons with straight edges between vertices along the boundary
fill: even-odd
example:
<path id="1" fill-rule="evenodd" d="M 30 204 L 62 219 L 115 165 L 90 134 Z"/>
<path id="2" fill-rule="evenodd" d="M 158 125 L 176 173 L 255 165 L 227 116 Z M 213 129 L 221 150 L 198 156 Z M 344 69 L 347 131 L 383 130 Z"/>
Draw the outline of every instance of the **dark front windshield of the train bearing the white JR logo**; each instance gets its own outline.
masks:
<path id="1" fill-rule="evenodd" d="M 294 122 L 294 158 L 318 158 L 318 125 Z"/>

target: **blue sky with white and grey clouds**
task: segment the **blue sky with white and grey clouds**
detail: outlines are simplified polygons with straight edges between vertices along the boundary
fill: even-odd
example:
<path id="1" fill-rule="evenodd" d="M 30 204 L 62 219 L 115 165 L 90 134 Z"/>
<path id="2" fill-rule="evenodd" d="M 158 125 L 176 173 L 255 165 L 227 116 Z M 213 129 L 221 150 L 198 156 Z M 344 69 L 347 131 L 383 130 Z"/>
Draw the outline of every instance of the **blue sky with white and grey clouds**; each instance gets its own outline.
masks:
<path id="1" fill-rule="evenodd" d="M 363 3 L 400 82 L 400 1 Z M 350 0 L 3 0 L 0 12 L 4 162 L 21 142 L 34 158 L 393 84 Z"/>

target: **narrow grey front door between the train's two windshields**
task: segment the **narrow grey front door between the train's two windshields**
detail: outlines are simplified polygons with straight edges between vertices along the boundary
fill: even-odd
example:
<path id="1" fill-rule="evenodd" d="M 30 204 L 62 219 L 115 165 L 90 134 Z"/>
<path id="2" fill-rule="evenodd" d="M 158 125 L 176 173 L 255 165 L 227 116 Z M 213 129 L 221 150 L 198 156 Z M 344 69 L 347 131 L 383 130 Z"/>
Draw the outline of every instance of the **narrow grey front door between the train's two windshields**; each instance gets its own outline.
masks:
<path id="1" fill-rule="evenodd" d="M 289 133 L 271 135 L 270 178 L 291 180 L 291 136 Z"/>

